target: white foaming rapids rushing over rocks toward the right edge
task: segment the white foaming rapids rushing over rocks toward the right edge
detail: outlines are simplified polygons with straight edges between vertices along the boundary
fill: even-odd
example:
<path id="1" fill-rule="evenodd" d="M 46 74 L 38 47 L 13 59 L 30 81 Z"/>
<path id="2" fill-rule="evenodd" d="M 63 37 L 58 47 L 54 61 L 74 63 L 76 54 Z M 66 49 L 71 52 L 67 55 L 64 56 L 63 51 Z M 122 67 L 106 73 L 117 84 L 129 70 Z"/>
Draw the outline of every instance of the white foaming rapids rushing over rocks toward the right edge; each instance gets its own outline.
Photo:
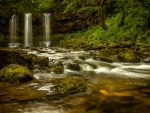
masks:
<path id="1" fill-rule="evenodd" d="M 63 50 L 64 51 L 64 50 Z M 123 75 L 132 78 L 150 78 L 150 65 L 149 63 L 108 63 L 100 60 L 95 60 L 89 55 L 90 51 L 64 51 L 61 53 L 56 53 L 55 50 L 49 49 L 45 53 L 38 53 L 38 56 L 46 56 L 50 61 L 63 62 L 65 66 L 65 73 L 78 73 L 85 75 L 84 72 L 93 72 L 97 75 L 103 75 L 103 73 L 115 76 Z M 95 51 L 96 53 L 96 51 Z M 80 56 L 85 57 L 85 60 L 80 59 Z M 51 64 L 52 62 L 49 62 Z M 81 71 L 74 71 L 67 69 L 67 63 L 79 64 Z M 68 75 L 68 74 L 67 74 Z"/>

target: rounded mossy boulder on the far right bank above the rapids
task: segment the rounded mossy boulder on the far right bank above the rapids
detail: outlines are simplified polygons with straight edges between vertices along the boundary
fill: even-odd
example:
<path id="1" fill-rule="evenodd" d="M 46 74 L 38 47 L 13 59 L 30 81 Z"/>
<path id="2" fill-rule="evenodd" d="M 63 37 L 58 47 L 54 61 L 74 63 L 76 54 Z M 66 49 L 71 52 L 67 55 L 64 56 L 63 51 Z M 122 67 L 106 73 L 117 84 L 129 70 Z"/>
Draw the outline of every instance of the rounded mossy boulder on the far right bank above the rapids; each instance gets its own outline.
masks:
<path id="1" fill-rule="evenodd" d="M 132 50 L 121 52 L 120 54 L 118 54 L 117 58 L 120 62 L 131 62 L 131 63 L 141 62 L 139 55 Z"/>

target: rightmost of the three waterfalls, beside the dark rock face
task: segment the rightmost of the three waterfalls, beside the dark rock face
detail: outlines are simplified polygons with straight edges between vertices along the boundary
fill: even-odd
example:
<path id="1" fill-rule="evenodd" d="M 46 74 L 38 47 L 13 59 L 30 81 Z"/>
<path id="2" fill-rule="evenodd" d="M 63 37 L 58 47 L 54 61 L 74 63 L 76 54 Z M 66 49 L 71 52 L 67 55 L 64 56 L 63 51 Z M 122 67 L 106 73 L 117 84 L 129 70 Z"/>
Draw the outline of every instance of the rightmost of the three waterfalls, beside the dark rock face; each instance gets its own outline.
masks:
<path id="1" fill-rule="evenodd" d="M 44 47 L 49 47 L 50 46 L 50 13 L 44 13 L 43 14 L 44 19 L 44 36 L 45 36 L 45 41 L 44 41 Z"/>

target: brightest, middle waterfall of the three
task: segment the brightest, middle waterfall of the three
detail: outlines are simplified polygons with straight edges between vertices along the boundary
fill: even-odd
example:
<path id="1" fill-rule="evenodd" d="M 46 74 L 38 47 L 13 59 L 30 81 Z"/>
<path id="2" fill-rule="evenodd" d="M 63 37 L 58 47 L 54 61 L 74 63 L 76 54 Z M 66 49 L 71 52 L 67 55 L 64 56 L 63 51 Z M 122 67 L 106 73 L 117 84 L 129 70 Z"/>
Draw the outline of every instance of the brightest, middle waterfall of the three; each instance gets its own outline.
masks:
<path id="1" fill-rule="evenodd" d="M 25 13 L 25 26 L 24 26 L 24 46 L 32 47 L 32 15 L 30 13 Z"/>

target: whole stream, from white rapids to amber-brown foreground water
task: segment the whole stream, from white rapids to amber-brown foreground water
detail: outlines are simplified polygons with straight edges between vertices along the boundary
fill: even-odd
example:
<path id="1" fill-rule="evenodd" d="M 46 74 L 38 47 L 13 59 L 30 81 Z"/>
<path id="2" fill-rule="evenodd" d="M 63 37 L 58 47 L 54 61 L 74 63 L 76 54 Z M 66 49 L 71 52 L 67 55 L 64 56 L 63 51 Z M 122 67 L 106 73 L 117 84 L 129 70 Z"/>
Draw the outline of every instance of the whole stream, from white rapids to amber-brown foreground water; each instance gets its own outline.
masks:
<path id="1" fill-rule="evenodd" d="M 0 83 L 1 92 L 15 92 L 0 95 L 0 113 L 150 113 L 149 63 L 108 63 L 94 50 L 51 48 L 28 54 L 48 57 L 51 69 L 62 62 L 64 73 L 35 68 L 34 81 L 19 86 Z M 87 91 L 53 95 L 50 81 L 64 77 L 83 78 Z"/>

